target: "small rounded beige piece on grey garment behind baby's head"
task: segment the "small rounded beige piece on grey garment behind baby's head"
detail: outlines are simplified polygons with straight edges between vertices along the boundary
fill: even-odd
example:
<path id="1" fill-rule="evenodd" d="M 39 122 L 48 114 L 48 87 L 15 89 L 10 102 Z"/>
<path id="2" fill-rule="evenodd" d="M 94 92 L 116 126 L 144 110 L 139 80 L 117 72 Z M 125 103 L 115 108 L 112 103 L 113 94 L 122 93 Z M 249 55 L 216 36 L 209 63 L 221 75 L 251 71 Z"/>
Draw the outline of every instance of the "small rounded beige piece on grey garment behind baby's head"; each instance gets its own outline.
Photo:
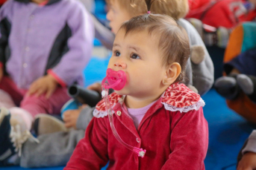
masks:
<path id="1" fill-rule="evenodd" d="M 202 45 L 192 45 L 190 48 L 190 60 L 199 65 L 205 59 L 205 49 Z"/>

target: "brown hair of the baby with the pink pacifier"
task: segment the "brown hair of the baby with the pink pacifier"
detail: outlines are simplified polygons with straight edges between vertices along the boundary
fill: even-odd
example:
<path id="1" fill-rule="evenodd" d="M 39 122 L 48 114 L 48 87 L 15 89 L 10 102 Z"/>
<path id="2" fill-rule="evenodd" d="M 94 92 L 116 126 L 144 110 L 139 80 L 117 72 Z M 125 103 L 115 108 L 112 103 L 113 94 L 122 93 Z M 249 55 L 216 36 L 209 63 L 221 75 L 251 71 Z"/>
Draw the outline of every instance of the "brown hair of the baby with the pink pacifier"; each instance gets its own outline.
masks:
<path id="1" fill-rule="evenodd" d="M 157 35 L 163 65 L 168 66 L 172 62 L 178 62 L 181 65 L 181 74 L 175 82 L 184 78 L 185 66 L 190 56 L 190 43 L 186 31 L 178 26 L 174 19 L 160 14 L 144 14 L 123 23 L 121 29 L 125 30 L 125 36 L 144 30 L 147 30 L 151 36 Z"/>

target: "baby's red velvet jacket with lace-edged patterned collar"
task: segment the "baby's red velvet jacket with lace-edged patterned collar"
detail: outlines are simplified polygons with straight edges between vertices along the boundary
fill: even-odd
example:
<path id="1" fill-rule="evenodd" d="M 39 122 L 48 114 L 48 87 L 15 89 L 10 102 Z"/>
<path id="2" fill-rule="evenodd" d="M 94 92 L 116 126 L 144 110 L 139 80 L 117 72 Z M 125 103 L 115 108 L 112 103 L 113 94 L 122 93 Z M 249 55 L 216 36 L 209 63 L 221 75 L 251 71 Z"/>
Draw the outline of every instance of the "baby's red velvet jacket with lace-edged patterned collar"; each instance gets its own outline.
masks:
<path id="1" fill-rule="evenodd" d="M 202 106 L 205 102 L 185 85 L 173 84 L 149 108 L 138 129 L 128 114 L 122 112 L 124 97 L 110 95 L 113 123 L 121 139 L 131 146 L 146 149 L 145 157 L 122 146 L 113 136 L 104 102 L 99 102 L 95 117 L 84 139 L 76 146 L 68 169 L 205 169 L 208 126 Z"/>

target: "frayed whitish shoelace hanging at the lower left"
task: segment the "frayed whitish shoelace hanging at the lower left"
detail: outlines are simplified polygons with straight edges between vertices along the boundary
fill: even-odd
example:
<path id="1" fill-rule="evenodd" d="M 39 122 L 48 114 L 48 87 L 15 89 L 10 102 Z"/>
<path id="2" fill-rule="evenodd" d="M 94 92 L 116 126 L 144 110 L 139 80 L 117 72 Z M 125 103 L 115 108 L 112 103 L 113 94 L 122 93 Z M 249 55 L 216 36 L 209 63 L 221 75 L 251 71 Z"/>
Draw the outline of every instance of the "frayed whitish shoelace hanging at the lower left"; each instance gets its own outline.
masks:
<path id="1" fill-rule="evenodd" d="M 34 137 L 30 131 L 21 131 L 19 124 L 10 127 L 10 140 L 13 143 L 13 147 L 15 147 L 15 151 L 19 152 L 19 157 L 22 155 L 22 144 L 25 143 L 28 138 L 36 143 L 40 143 L 40 141 L 37 140 L 37 138 Z"/>

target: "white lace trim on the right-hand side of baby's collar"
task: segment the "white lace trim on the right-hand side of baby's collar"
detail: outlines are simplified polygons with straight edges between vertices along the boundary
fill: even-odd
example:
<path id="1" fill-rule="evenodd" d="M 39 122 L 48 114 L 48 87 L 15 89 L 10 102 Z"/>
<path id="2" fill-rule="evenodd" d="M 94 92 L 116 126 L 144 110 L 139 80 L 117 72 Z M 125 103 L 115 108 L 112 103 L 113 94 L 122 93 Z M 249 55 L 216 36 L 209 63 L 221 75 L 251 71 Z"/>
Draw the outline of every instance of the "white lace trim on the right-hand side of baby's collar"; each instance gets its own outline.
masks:
<path id="1" fill-rule="evenodd" d="M 181 113 L 183 113 L 183 112 L 187 113 L 188 111 L 192 111 L 192 110 L 198 111 L 199 108 L 205 106 L 205 101 L 202 98 L 200 98 L 199 102 L 196 102 L 196 104 L 189 105 L 189 106 L 186 106 L 184 108 L 177 108 L 173 105 L 167 104 L 166 102 L 162 102 L 162 104 L 164 105 L 164 108 L 166 108 L 166 110 L 168 110 L 168 111 L 180 111 Z"/>

